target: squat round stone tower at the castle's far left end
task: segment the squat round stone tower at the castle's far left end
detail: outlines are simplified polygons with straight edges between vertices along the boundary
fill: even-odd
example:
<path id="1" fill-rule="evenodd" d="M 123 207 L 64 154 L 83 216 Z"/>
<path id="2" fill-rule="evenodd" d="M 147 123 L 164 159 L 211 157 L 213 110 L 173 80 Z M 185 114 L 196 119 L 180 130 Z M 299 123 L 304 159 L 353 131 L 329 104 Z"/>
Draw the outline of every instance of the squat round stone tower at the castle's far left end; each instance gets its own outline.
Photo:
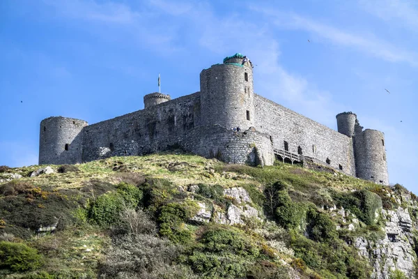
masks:
<path id="1" fill-rule="evenodd" d="M 40 122 L 39 165 L 82 163 L 82 130 L 87 122 L 62 116 Z"/>

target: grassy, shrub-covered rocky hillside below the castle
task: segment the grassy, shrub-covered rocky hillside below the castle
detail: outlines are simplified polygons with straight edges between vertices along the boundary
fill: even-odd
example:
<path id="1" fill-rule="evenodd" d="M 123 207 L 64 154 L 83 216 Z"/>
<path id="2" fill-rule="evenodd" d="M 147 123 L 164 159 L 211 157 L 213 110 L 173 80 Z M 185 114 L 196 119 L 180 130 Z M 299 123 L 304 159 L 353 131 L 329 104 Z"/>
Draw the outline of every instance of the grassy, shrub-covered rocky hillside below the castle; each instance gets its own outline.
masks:
<path id="1" fill-rule="evenodd" d="M 1 278 L 371 278 L 353 243 L 385 238 L 379 210 L 418 219 L 398 184 L 283 163 L 160 153 L 30 177 L 40 167 L 0 167 L 22 175 L 0 183 Z"/>

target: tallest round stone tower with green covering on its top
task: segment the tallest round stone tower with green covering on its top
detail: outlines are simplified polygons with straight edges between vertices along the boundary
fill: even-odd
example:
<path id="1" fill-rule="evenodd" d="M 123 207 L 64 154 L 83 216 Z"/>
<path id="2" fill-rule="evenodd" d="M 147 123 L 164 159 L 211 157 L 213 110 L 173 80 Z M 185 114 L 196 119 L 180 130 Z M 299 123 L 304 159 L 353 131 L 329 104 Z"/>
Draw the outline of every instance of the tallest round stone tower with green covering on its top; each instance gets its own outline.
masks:
<path id="1" fill-rule="evenodd" d="M 255 126 L 253 72 L 246 56 L 237 53 L 202 70 L 200 89 L 202 125 Z"/>

